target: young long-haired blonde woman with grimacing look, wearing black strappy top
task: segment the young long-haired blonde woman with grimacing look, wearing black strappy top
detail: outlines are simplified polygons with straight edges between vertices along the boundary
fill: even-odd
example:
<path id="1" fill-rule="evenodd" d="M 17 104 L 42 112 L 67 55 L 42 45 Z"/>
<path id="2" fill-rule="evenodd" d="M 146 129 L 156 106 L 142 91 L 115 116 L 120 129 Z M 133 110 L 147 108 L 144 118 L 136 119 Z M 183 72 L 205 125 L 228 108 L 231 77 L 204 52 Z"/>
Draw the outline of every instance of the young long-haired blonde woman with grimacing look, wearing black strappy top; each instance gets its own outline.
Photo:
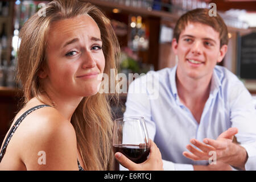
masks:
<path id="1" fill-rule="evenodd" d="M 100 73 L 110 75 L 119 57 L 110 21 L 76 0 L 51 1 L 42 12 L 20 30 L 24 107 L 1 146 L 0 170 L 110 169 L 113 121 L 108 97 L 98 93 Z M 117 159 L 129 169 L 162 169 L 152 141 L 146 162 Z"/>

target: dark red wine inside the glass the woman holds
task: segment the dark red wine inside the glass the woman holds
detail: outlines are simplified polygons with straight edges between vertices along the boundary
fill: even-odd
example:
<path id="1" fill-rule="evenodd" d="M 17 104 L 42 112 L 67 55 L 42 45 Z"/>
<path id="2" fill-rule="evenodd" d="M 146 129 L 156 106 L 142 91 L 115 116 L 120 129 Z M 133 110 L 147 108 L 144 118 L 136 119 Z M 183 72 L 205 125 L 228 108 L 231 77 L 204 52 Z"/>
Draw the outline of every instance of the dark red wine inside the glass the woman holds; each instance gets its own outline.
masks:
<path id="1" fill-rule="evenodd" d="M 114 151 L 114 154 L 115 152 L 121 152 L 131 161 L 139 164 L 147 160 L 147 156 L 150 153 L 150 148 L 146 146 L 135 145 L 135 144 L 116 144 L 113 146 L 113 151 Z"/>

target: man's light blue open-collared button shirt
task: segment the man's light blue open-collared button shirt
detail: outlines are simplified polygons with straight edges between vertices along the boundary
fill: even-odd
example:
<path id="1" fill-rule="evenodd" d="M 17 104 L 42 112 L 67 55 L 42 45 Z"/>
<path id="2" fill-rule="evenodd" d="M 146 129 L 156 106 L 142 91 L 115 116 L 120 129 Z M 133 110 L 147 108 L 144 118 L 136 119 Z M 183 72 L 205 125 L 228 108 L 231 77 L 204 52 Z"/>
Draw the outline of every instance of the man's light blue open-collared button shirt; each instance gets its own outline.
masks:
<path id="1" fill-rule="evenodd" d="M 249 157 L 245 169 L 256 170 L 256 110 L 253 98 L 242 82 L 228 69 L 216 65 L 209 98 L 198 123 L 179 100 L 176 68 L 151 71 L 131 82 L 124 114 L 124 117 L 144 117 L 148 135 L 162 154 L 164 169 L 193 170 L 193 164 L 209 164 L 206 160 L 193 161 L 183 156 L 183 151 L 188 151 L 185 146 L 189 140 L 217 139 L 229 127 L 237 127 L 237 142 L 246 149 Z M 159 80 L 153 89 L 158 94 L 151 97 L 152 89 L 148 89 L 147 84 L 152 84 L 154 79 Z"/>

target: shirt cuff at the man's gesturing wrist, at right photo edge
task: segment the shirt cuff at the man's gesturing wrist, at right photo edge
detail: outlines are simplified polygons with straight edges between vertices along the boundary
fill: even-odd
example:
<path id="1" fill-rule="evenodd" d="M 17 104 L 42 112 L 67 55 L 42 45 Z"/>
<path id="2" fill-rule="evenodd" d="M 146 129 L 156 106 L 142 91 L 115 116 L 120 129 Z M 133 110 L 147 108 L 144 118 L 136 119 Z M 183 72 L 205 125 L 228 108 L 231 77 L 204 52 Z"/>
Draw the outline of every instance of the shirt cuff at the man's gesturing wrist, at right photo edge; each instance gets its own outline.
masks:
<path id="1" fill-rule="evenodd" d="M 256 143 L 246 143 L 246 144 L 241 144 L 242 147 L 245 148 L 248 159 L 247 162 L 245 163 L 245 170 L 251 170 L 255 171 L 256 170 Z"/>

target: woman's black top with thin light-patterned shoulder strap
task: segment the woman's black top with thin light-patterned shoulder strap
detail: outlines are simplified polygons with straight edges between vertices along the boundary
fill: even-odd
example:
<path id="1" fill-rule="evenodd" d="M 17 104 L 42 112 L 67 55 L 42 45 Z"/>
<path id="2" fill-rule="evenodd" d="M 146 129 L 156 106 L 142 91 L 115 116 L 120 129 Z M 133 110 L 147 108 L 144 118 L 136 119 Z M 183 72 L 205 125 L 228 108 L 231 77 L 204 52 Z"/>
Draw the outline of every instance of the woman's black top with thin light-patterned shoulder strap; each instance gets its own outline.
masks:
<path id="1" fill-rule="evenodd" d="M 17 121 L 14 123 L 13 127 L 11 128 L 11 130 L 10 130 L 8 136 L 7 136 L 7 138 L 5 140 L 5 143 L 3 144 L 3 148 L 2 148 L 1 153 L 0 153 L 0 163 L 3 159 L 3 156 L 5 155 L 6 147 L 9 144 L 11 137 L 13 137 L 14 132 L 18 128 L 19 124 L 23 121 L 24 118 L 27 117 L 28 114 L 32 113 L 32 111 L 35 111 L 36 109 L 40 109 L 42 107 L 49 107 L 49 105 L 38 105 L 38 106 L 32 107 L 31 109 L 27 110 L 25 113 L 23 113 L 17 119 Z M 84 171 L 84 169 L 80 166 L 80 163 L 79 163 L 78 159 L 77 159 L 77 164 L 78 164 L 78 167 L 79 167 L 79 171 Z"/>

